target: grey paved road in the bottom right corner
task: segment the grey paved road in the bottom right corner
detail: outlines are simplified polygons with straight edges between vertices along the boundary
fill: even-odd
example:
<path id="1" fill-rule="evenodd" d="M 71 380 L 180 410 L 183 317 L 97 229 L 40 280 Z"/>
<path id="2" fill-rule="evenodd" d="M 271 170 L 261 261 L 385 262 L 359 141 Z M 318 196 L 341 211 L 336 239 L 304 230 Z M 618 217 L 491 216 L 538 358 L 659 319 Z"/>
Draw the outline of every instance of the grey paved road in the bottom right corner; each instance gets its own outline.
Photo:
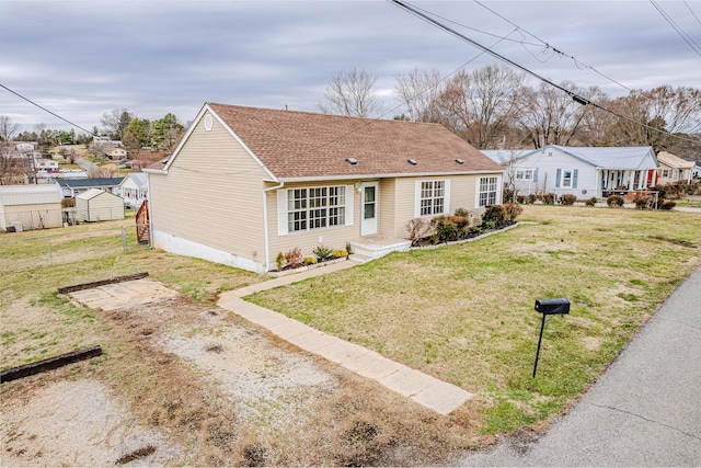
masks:
<path id="1" fill-rule="evenodd" d="M 701 466 L 701 269 L 570 414 L 462 466 Z"/>

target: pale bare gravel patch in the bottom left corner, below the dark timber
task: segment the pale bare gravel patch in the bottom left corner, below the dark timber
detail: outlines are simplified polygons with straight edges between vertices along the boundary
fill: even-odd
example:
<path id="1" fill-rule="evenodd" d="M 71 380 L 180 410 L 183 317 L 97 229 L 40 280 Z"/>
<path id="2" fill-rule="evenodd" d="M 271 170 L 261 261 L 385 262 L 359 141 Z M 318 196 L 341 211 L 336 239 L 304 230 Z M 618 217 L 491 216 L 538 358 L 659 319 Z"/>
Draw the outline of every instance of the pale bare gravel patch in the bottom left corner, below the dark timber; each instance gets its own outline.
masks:
<path id="1" fill-rule="evenodd" d="M 2 438 L 3 466 L 111 466 L 129 454 L 140 464 L 169 466 L 184 453 L 140 426 L 95 380 L 57 381 L 20 402 L 3 401 Z"/>

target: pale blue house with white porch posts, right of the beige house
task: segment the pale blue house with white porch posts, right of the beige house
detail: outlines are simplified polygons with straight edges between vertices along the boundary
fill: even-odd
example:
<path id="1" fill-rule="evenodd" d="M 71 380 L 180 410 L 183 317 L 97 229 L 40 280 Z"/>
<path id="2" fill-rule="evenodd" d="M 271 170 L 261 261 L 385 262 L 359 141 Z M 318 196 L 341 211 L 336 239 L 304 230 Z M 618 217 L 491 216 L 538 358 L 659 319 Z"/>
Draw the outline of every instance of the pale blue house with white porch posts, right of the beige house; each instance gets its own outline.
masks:
<path id="1" fill-rule="evenodd" d="M 625 194 L 657 184 L 652 147 L 566 147 L 548 145 L 516 159 L 508 176 L 519 195 L 554 193 L 578 198 Z"/>

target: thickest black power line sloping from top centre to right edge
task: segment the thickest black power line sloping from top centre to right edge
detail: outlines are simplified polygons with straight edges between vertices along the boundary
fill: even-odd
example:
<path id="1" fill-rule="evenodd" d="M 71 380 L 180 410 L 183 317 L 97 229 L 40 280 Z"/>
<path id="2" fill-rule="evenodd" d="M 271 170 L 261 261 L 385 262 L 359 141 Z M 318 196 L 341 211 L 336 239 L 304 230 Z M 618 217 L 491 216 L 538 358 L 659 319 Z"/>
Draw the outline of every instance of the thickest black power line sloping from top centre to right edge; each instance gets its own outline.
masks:
<path id="1" fill-rule="evenodd" d="M 510 65 L 512 67 L 518 68 L 519 70 L 524 71 L 525 73 L 530 75 L 531 77 L 533 77 L 533 78 L 536 78 L 536 79 L 538 79 L 538 80 L 540 80 L 540 81 L 542 81 L 544 83 L 548 83 L 553 88 L 559 89 L 560 91 L 562 91 L 562 92 L 566 93 L 567 95 L 570 95 L 572 98 L 572 100 L 574 102 L 578 103 L 578 104 L 590 105 L 593 107 L 596 107 L 598 110 L 601 110 L 601 111 L 607 112 L 607 113 L 609 113 L 611 115 L 614 115 L 614 116 L 617 116 L 619 118 L 622 118 L 622 119 L 624 119 L 627 122 L 630 122 L 632 124 L 639 125 L 641 127 L 647 128 L 647 129 L 653 130 L 653 132 L 666 133 L 667 135 L 669 135 L 670 137 L 674 137 L 674 138 L 678 138 L 678 139 L 682 139 L 682 140 L 687 140 L 687 141 L 691 141 L 691 142 L 699 142 L 699 140 L 697 140 L 697 139 L 685 138 L 685 137 L 680 137 L 678 135 L 670 134 L 668 132 L 662 130 L 659 128 L 655 128 L 655 127 L 650 126 L 647 124 L 644 124 L 642 122 L 637 122 L 637 121 L 635 121 L 635 119 L 633 119 L 631 117 L 628 117 L 625 115 L 619 114 L 618 112 L 611 111 L 610 109 L 604 107 L 602 105 L 599 105 L 599 104 L 597 104 L 597 103 L 595 103 L 593 101 L 589 101 L 586 98 L 583 98 L 583 96 L 576 94 L 574 91 L 570 91 L 568 89 L 566 89 L 564 87 L 561 87 L 560 84 L 556 84 L 556 83 L 554 83 L 553 81 L 551 81 L 551 80 L 549 80 L 547 78 L 541 77 L 540 75 L 538 75 L 535 71 L 531 71 L 528 68 L 515 62 L 514 60 L 512 60 L 509 58 L 506 58 L 501 54 L 497 54 L 496 52 L 492 50 L 491 48 L 489 48 L 486 46 L 483 46 L 482 44 L 478 43 L 476 41 L 471 39 L 470 37 L 467 37 L 463 34 L 460 34 L 459 32 L 455 31 L 453 28 L 440 23 L 437 20 L 434 20 L 433 18 L 428 16 L 427 14 L 422 13 L 421 11 L 414 9 L 413 7 L 402 2 L 400 0 L 388 0 L 388 1 L 391 2 L 391 3 L 397 4 L 398 7 L 401 7 L 405 11 L 407 11 L 411 14 L 417 16 L 420 20 L 425 21 L 425 22 L 427 22 L 427 23 L 429 23 L 429 24 L 432 24 L 432 25 L 434 25 L 434 26 L 436 26 L 436 27 L 438 27 L 438 28 L 440 28 L 440 30 L 443 30 L 443 31 L 456 36 L 456 37 L 458 37 L 459 39 L 464 41 L 464 42 L 473 45 L 474 47 L 485 52 L 486 54 L 490 54 L 491 56 L 493 56 L 493 57 L 495 57 L 495 58 L 497 58 L 497 59 Z"/>

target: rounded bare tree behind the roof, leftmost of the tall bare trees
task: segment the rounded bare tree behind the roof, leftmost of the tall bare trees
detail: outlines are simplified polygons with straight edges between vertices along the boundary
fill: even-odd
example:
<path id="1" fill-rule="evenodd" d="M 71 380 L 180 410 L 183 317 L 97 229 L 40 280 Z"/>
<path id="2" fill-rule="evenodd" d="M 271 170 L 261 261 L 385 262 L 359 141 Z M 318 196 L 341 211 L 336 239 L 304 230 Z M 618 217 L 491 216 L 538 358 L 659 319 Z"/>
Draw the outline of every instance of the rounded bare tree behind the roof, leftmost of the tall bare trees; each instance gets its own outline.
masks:
<path id="1" fill-rule="evenodd" d="M 365 70 L 341 70 L 322 91 L 325 102 L 319 104 L 324 114 L 374 117 L 382 113 L 382 104 L 375 93 L 377 78 Z"/>

